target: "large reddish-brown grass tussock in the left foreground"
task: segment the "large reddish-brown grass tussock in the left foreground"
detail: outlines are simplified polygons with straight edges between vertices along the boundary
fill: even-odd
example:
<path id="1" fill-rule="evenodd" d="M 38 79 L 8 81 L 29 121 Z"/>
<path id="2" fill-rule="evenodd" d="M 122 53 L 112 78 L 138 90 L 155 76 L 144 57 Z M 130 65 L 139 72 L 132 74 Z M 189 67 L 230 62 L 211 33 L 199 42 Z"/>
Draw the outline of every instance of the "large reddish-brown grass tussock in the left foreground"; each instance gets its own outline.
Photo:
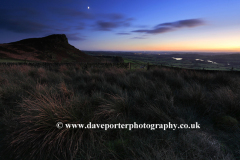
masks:
<path id="1" fill-rule="evenodd" d="M 20 105 L 22 114 L 15 118 L 19 125 L 7 136 L 8 153 L 26 159 L 72 159 L 82 141 L 90 142 L 91 130 L 59 130 L 55 124 L 58 121 L 64 124 L 88 122 L 91 116 L 84 109 L 84 103 L 81 103 L 84 105 L 80 107 L 81 111 L 71 103 L 71 100 L 63 102 L 58 95 L 51 93 L 25 99 Z M 84 117 L 87 119 L 83 120 Z"/>

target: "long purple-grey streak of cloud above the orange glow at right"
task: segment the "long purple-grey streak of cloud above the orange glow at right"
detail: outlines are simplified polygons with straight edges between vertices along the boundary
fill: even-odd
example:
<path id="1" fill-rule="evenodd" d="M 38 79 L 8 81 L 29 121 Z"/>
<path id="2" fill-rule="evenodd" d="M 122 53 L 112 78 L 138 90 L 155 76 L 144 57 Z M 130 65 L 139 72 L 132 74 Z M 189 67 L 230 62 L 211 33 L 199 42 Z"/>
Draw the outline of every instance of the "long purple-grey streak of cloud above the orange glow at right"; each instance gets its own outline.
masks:
<path id="1" fill-rule="evenodd" d="M 201 26 L 201 25 L 204 25 L 203 20 L 187 19 L 187 20 L 180 20 L 180 21 L 170 22 L 170 23 L 161 23 L 161 24 L 155 26 L 153 29 L 134 30 L 132 32 L 160 34 L 160 33 L 175 31 L 179 28 L 197 27 L 197 26 Z"/>

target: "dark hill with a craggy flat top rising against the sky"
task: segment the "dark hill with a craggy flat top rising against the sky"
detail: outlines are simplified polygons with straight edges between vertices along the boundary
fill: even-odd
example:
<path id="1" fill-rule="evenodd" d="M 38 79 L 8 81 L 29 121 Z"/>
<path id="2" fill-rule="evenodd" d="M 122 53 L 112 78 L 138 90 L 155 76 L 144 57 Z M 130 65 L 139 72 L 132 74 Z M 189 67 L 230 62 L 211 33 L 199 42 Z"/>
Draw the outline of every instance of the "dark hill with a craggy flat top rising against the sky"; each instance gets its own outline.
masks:
<path id="1" fill-rule="evenodd" d="M 99 62 L 68 43 L 65 34 L 0 44 L 0 58 L 42 62 Z"/>

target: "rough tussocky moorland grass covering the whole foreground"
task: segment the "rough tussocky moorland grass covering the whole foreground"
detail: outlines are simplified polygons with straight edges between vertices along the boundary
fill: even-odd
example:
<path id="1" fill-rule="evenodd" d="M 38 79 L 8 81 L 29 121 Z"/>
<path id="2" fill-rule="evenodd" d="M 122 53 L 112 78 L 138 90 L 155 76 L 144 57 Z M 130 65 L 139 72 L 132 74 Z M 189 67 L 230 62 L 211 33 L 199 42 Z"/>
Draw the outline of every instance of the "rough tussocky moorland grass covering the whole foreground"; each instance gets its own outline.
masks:
<path id="1" fill-rule="evenodd" d="M 160 68 L 0 67 L 0 159 L 239 159 L 240 77 Z M 200 124 L 200 129 L 62 129 Z"/>

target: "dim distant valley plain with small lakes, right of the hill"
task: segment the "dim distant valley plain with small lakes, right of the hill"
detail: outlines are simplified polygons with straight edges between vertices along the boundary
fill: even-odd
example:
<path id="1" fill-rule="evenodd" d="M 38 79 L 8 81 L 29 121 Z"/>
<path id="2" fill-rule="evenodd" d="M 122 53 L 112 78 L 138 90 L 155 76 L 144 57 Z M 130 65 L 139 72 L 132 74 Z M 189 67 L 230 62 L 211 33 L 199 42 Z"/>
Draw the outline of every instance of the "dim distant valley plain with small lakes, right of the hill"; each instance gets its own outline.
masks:
<path id="1" fill-rule="evenodd" d="M 206 70 L 231 70 L 240 71 L 240 54 L 229 55 L 200 55 L 200 54 L 135 54 L 133 52 L 93 52 L 86 51 L 89 55 L 122 56 L 124 62 L 135 64 L 155 64 L 189 69 Z M 182 58 L 175 60 L 174 58 Z M 200 60 L 196 60 L 200 59 Z"/>

